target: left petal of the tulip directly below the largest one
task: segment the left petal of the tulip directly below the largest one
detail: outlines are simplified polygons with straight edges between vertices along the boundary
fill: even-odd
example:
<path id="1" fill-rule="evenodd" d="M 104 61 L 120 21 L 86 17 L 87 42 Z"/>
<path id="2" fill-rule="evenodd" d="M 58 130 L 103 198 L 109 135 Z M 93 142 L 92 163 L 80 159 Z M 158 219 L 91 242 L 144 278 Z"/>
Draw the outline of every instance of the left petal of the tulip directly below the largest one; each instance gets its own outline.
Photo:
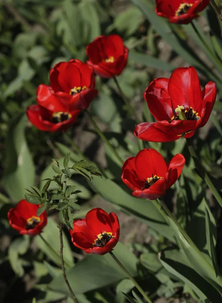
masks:
<path id="1" fill-rule="evenodd" d="M 141 189 L 144 186 L 144 180 L 136 174 L 135 157 L 128 158 L 122 167 L 122 181 L 132 190 Z"/>

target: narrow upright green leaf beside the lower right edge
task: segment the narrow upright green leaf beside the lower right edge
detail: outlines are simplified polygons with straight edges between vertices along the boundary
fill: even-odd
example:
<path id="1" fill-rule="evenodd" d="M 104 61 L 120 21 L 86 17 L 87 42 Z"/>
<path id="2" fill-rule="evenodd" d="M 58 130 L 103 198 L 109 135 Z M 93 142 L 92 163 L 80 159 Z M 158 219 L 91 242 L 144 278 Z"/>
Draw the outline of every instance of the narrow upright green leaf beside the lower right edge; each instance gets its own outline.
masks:
<path id="1" fill-rule="evenodd" d="M 216 261 L 216 250 L 213 241 L 213 233 L 211 231 L 210 215 L 207 208 L 205 208 L 205 214 L 206 214 L 206 243 L 208 247 L 209 256 L 211 257 L 213 268 L 215 270 L 215 275 L 217 277 L 219 275 L 219 269 Z"/>

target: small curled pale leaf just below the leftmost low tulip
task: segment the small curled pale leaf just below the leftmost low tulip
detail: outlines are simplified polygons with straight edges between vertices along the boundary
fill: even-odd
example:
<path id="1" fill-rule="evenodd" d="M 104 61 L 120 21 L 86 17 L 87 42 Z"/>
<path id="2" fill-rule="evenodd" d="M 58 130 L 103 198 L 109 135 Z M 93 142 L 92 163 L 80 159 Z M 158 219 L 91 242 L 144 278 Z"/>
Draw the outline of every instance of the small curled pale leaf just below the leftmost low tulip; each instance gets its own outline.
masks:
<path id="1" fill-rule="evenodd" d="M 30 237 L 28 235 L 15 239 L 9 246 L 9 262 L 18 277 L 24 275 L 22 261 L 19 255 L 24 255 L 29 248 Z"/>

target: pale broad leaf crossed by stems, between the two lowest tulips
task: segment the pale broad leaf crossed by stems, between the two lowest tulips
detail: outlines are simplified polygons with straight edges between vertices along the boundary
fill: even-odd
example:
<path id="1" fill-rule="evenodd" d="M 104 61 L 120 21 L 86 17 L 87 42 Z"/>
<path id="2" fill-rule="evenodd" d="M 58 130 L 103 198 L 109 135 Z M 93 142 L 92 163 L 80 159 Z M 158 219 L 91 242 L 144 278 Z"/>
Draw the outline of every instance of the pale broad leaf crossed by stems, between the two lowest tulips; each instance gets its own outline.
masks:
<path id="1" fill-rule="evenodd" d="M 42 237 L 47 243 L 54 249 L 50 249 L 49 246 L 42 240 L 42 238 L 37 235 L 34 238 L 34 241 L 37 243 L 38 247 L 44 252 L 44 254 L 52 260 L 56 265 L 61 266 L 61 260 L 59 255 L 60 241 L 59 241 L 59 229 L 57 224 L 51 219 L 48 218 L 47 225 L 44 227 L 42 232 Z M 63 257 L 65 261 L 65 267 L 71 268 L 74 265 L 71 249 L 68 244 L 68 240 L 63 233 Z"/>

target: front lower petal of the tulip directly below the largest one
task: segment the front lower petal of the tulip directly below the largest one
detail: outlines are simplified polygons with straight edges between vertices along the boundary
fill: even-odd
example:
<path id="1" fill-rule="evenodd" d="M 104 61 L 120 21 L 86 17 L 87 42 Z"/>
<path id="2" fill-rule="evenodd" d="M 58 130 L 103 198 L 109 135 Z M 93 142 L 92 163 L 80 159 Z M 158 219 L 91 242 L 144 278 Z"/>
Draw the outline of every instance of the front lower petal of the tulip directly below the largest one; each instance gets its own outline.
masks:
<path id="1" fill-rule="evenodd" d="M 164 195 L 167 189 L 167 180 L 165 178 L 159 179 L 150 188 L 143 190 L 135 190 L 133 191 L 133 195 L 138 198 L 155 200 Z"/>

